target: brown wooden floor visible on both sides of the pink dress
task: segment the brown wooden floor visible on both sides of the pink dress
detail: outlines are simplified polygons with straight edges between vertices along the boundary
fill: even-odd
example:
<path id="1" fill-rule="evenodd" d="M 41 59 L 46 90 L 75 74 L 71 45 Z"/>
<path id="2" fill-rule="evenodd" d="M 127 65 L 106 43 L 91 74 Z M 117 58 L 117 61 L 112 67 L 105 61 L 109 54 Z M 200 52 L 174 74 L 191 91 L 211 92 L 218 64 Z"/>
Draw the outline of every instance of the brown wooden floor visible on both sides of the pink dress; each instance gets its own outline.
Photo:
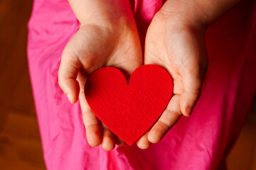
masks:
<path id="1" fill-rule="evenodd" d="M 32 0 L 0 0 L 0 169 L 46 169 L 26 61 Z M 256 170 L 256 104 L 228 157 Z"/>

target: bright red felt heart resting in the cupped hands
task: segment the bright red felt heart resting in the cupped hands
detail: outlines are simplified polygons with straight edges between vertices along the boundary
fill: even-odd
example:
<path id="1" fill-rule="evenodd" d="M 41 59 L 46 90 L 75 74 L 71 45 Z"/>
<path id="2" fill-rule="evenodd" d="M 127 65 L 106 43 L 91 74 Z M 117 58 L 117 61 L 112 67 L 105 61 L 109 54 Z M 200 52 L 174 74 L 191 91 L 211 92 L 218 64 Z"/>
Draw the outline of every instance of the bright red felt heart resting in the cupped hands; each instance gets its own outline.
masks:
<path id="1" fill-rule="evenodd" d="M 97 118 L 131 146 L 163 113 L 172 91 L 169 73 L 159 66 L 135 69 L 129 85 L 119 69 L 103 67 L 88 77 L 85 97 Z"/>

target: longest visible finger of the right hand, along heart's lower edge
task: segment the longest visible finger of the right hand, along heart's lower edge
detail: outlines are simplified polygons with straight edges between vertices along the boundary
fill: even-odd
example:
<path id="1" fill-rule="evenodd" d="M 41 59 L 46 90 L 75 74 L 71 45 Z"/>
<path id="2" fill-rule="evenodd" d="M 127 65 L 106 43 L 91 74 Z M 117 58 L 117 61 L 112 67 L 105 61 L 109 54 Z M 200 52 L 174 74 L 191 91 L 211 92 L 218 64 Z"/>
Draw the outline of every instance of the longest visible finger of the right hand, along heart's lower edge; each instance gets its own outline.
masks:
<path id="1" fill-rule="evenodd" d="M 148 140 L 151 143 L 159 142 L 166 132 L 168 132 L 173 125 L 176 124 L 179 118 L 181 118 L 181 108 L 180 108 L 180 96 L 178 94 L 174 95 L 169 101 L 166 110 L 162 113 L 159 120 L 154 124 L 154 126 L 149 131 Z"/>

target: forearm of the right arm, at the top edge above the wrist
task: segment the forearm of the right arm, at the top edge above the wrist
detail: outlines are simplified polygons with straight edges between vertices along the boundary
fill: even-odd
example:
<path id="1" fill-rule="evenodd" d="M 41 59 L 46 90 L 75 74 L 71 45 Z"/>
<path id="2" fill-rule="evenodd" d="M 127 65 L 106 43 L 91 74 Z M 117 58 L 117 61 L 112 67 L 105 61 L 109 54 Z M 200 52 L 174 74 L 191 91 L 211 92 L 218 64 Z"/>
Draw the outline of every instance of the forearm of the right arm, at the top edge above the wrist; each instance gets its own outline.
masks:
<path id="1" fill-rule="evenodd" d="M 241 0 L 168 0 L 160 13 L 194 26 L 209 26 Z"/>

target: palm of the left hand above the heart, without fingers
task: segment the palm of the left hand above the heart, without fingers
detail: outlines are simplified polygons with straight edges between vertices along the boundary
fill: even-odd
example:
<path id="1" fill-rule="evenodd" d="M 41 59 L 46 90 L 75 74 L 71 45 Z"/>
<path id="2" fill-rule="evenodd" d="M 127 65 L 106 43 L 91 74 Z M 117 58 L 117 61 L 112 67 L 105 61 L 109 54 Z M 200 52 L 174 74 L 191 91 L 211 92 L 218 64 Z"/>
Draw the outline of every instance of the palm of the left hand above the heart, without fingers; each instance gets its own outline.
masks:
<path id="1" fill-rule="evenodd" d="M 68 45 L 88 73 L 102 66 L 134 69 L 142 57 L 137 32 L 132 31 L 116 33 L 100 26 L 83 26 Z"/>

